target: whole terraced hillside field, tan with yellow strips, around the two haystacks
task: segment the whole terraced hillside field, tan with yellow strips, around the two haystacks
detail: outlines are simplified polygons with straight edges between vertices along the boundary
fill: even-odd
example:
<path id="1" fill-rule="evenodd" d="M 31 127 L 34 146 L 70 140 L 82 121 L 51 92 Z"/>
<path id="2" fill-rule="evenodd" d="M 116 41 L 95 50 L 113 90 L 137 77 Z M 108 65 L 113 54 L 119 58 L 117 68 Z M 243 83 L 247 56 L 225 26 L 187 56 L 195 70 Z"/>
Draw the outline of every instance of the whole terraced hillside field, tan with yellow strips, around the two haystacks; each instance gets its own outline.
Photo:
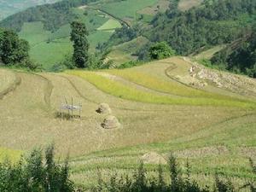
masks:
<path id="1" fill-rule="evenodd" d="M 104 178 L 131 174 L 146 156 L 150 173 L 158 164 L 153 154 L 166 158 L 171 151 L 182 165 L 187 158 L 196 165 L 192 174 L 201 182 L 215 172 L 236 183 L 255 179 L 248 163 L 256 158 L 255 102 L 236 91 L 207 90 L 175 78 L 189 76 L 191 65 L 172 57 L 125 70 L 33 74 L 1 69 L 1 82 L 3 74 L 21 80 L 0 100 L 0 156 L 54 142 L 57 156 L 69 152 L 72 178 L 86 189 L 96 183 L 97 168 Z M 82 118 L 57 119 L 61 104 L 72 97 L 83 106 Z M 121 128 L 101 127 L 106 115 L 96 109 L 102 102 Z"/>

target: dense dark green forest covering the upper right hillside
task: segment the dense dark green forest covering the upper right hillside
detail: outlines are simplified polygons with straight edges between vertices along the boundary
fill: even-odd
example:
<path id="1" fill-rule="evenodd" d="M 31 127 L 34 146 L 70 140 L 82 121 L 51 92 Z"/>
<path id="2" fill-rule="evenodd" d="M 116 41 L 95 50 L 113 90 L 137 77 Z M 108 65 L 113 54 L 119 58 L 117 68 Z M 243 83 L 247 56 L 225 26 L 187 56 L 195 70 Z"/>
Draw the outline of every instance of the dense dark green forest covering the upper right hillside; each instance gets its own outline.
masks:
<path id="1" fill-rule="evenodd" d="M 177 0 L 175 0 L 177 2 Z M 255 20 L 254 0 L 206 0 L 202 6 L 181 12 L 171 3 L 165 14 L 152 20 L 153 41 L 168 42 L 180 55 L 189 55 L 204 46 L 229 44 L 250 28 Z"/>

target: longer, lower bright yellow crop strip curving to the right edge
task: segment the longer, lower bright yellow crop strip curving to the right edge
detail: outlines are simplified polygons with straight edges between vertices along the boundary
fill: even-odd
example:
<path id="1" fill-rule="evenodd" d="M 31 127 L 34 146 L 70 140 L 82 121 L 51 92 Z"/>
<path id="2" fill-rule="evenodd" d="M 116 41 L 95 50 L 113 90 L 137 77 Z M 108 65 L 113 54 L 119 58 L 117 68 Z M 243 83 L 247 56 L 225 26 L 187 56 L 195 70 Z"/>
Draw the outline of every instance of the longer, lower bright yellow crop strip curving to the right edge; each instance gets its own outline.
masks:
<path id="1" fill-rule="evenodd" d="M 210 96 L 208 96 L 207 98 L 161 96 L 158 94 L 132 88 L 131 86 L 114 81 L 113 79 L 102 77 L 101 75 L 95 72 L 67 71 L 66 73 L 79 76 L 80 78 L 89 81 L 91 84 L 94 84 L 98 89 L 103 90 L 108 94 L 111 94 L 113 96 L 118 96 L 123 99 L 136 101 L 136 102 L 191 105 L 191 106 L 206 105 L 206 106 L 225 106 L 225 107 L 237 107 L 237 108 L 255 108 L 254 102 L 241 102 L 241 101 L 232 101 L 232 100 L 224 100 L 224 99 L 215 99 L 215 98 L 211 98 Z M 189 92 L 189 89 L 187 91 Z M 190 95 L 192 94 L 190 93 Z"/>

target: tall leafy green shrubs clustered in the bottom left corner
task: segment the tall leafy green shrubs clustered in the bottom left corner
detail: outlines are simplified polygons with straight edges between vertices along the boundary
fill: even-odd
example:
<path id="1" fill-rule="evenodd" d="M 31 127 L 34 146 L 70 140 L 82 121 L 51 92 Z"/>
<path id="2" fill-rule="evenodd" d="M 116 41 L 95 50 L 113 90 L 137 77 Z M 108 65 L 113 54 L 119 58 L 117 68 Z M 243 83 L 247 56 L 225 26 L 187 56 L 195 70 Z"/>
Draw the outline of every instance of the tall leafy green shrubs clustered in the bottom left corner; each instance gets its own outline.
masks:
<path id="1" fill-rule="evenodd" d="M 67 161 L 64 165 L 54 160 L 54 147 L 34 149 L 27 158 L 12 165 L 9 161 L 0 164 L 0 191 L 3 192 L 72 192 Z"/>

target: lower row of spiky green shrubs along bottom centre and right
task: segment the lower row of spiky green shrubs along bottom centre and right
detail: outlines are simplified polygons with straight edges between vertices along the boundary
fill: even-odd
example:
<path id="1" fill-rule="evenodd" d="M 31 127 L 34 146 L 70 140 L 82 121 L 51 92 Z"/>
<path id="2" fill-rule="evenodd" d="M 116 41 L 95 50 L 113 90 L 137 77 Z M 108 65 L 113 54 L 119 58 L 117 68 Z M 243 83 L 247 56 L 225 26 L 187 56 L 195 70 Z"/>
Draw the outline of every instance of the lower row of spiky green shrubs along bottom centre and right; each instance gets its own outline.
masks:
<path id="1" fill-rule="evenodd" d="M 214 189 L 209 189 L 209 186 L 201 187 L 197 182 L 191 177 L 191 167 L 189 162 L 187 162 L 185 167 L 185 177 L 183 177 L 182 171 L 177 164 L 177 160 L 174 156 L 168 160 L 168 179 L 166 182 L 166 176 L 164 175 L 163 166 L 158 167 L 158 176 L 153 178 L 147 177 L 147 171 L 144 168 L 143 163 L 137 168 L 133 177 L 117 177 L 116 175 L 109 179 L 108 183 L 104 183 L 102 178 L 99 178 L 98 186 L 94 189 L 95 192 L 103 191 L 115 191 L 115 192 L 235 192 L 236 190 L 229 179 L 223 180 L 215 176 Z M 252 161 L 252 170 L 255 172 L 255 166 Z M 151 172 L 152 173 L 152 172 Z M 157 175 L 155 174 L 155 175 Z M 255 186 L 253 182 L 249 182 L 241 189 L 249 189 L 251 192 L 255 191 Z"/>

